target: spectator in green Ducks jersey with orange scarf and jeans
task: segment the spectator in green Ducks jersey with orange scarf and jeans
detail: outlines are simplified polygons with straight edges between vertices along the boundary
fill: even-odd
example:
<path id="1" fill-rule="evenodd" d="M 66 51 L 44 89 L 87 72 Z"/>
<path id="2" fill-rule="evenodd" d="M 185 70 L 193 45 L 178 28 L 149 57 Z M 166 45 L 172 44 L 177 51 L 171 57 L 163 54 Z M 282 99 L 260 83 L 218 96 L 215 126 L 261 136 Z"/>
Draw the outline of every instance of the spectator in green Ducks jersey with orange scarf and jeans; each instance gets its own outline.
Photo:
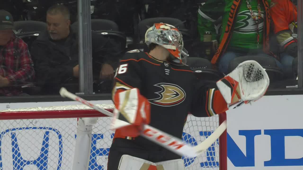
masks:
<path id="1" fill-rule="evenodd" d="M 212 33 L 215 41 L 213 22 L 222 17 L 222 30 L 217 52 L 211 63 L 218 64 L 224 74 L 228 65 L 236 57 L 269 53 L 270 0 L 211 0 L 198 11 L 198 31 L 201 41 L 205 31 Z M 218 42 L 214 42 L 214 47 Z M 281 63 L 276 60 L 278 67 Z"/>

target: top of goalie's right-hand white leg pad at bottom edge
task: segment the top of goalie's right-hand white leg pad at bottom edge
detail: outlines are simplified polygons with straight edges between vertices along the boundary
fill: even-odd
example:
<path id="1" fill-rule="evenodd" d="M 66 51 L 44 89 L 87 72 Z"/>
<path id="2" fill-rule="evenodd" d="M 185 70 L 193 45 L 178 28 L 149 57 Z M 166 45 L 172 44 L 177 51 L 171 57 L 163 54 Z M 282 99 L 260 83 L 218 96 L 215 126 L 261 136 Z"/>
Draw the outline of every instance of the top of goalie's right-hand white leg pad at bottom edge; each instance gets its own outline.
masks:
<path id="1" fill-rule="evenodd" d="M 185 170 L 183 159 L 156 162 L 157 170 Z"/>

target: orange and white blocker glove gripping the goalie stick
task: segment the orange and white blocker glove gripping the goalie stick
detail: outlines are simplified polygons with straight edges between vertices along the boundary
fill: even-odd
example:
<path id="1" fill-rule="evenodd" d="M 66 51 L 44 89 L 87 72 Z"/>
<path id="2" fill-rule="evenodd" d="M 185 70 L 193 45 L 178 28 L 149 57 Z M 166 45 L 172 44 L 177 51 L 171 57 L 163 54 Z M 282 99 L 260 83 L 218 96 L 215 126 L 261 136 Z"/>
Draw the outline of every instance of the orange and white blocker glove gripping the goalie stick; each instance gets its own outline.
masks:
<path id="1" fill-rule="evenodd" d="M 150 123 L 150 103 L 140 94 L 137 88 L 117 90 L 114 97 L 115 116 L 112 119 L 111 129 L 119 131 L 129 137 L 140 135 L 142 126 Z M 125 125 L 122 121 L 131 125 Z"/>

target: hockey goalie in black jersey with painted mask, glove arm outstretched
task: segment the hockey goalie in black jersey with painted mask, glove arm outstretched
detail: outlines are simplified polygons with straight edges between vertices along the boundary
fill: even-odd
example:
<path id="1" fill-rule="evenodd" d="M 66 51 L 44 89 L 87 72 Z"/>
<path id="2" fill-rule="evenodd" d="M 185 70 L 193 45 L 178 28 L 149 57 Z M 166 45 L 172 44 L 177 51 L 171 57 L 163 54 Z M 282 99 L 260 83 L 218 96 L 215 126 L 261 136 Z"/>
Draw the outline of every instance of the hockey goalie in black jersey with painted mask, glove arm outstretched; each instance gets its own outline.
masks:
<path id="1" fill-rule="evenodd" d="M 142 125 L 181 139 L 188 113 L 207 117 L 254 102 L 265 94 L 269 79 L 257 62 L 245 61 L 219 80 L 217 89 L 209 89 L 186 65 L 188 52 L 177 28 L 156 23 L 147 30 L 145 43 L 148 53 L 128 51 L 116 70 L 108 170 L 184 170 L 180 155 L 139 136 Z"/>

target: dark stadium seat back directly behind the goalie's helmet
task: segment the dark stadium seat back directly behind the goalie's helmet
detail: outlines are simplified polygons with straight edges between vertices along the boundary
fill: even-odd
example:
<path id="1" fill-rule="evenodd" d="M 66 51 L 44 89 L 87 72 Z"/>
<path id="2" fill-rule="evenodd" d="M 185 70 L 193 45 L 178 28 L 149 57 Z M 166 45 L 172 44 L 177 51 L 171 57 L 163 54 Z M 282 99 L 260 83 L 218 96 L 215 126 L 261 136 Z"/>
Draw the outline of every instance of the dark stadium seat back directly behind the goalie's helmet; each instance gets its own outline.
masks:
<path id="1" fill-rule="evenodd" d="M 192 38 L 191 34 L 187 29 L 185 29 L 184 23 L 176 18 L 147 18 L 139 22 L 137 31 L 135 33 L 135 40 L 134 44 L 129 44 L 128 45 L 128 50 L 133 50 L 133 49 L 141 49 L 142 51 L 147 50 L 147 46 L 145 44 L 145 33 L 150 28 L 153 26 L 155 23 L 166 23 L 175 26 L 178 28 L 178 30 L 181 32 L 183 36 L 183 41 L 184 41 L 184 47 L 187 49 L 187 46 L 190 46 L 192 43 Z"/>

